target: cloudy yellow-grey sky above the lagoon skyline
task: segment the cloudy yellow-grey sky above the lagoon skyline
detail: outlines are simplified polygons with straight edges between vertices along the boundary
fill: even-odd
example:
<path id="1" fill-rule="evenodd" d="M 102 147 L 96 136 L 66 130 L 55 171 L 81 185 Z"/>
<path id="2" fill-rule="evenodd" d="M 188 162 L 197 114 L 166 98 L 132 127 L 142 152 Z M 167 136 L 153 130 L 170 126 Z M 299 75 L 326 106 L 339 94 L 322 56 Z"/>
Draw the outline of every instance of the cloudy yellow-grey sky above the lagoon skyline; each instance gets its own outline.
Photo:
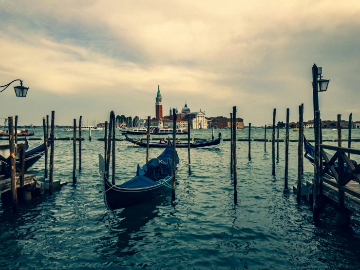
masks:
<path id="1" fill-rule="evenodd" d="M 227 116 L 245 125 L 313 118 L 312 66 L 330 79 L 322 119 L 360 121 L 359 0 L 0 0 L 0 118 L 57 125 L 163 112 Z M 17 83 L 15 84 L 17 85 Z M 12 85 L 13 86 L 13 85 Z M 2 120 L 0 119 L 0 124 Z"/>

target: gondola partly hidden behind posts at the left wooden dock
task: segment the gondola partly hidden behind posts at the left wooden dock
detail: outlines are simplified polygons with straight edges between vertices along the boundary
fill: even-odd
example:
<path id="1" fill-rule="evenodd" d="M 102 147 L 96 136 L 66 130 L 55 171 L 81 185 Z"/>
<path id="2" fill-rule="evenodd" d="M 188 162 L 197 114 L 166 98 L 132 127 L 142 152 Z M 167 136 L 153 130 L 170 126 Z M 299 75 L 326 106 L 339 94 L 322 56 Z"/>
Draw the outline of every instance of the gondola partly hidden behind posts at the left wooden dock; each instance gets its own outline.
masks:
<path id="1" fill-rule="evenodd" d="M 49 139 L 48 149 L 51 146 L 51 138 Z M 39 145 L 38 147 L 26 151 L 29 148 L 29 143 L 27 138 L 25 137 L 25 162 L 24 162 L 24 169 L 25 171 L 33 166 L 44 154 L 45 154 L 45 143 Z M 9 152 L 10 153 L 10 152 Z M 10 154 L 5 154 L 4 157 L 0 155 L 0 174 L 10 175 Z M 20 162 L 19 153 L 16 156 L 16 164 L 18 165 Z"/>

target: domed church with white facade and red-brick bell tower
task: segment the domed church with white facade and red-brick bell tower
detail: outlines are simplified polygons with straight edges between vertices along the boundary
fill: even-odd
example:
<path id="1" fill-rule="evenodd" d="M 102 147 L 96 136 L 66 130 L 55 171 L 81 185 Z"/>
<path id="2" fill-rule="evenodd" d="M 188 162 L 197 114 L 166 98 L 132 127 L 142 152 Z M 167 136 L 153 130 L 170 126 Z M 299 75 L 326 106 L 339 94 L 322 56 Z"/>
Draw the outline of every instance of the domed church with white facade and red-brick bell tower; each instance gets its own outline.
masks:
<path id="1" fill-rule="evenodd" d="M 188 119 L 190 121 L 190 127 L 188 127 Z M 157 95 L 155 97 L 155 119 L 151 121 L 151 125 L 158 128 L 173 126 L 173 114 L 170 108 L 170 113 L 167 116 L 163 116 L 163 103 L 160 93 L 160 86 L 157 88 Z M 185 102 L 184 108 L 179 113 L 176 108 L 176 128 L 182 129 L 207 129 L 208 119 L 205 117 L 205 111 L 191 112 L 188 104 Z"/>

